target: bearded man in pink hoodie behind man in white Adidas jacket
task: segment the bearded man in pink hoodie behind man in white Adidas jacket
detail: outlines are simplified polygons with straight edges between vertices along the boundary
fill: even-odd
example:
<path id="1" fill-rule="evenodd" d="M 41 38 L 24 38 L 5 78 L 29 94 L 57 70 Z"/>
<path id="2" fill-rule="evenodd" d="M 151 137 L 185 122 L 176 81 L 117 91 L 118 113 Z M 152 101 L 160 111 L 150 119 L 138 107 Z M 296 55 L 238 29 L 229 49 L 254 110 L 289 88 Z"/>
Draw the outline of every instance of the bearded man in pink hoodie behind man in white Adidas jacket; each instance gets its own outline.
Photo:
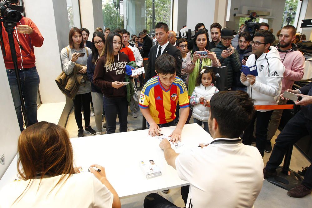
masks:
<path id="1" fill-rule="evenodd" d="M 282 80 L 282 91 L 291 89 L 295 81 L 299 81 L 303 77 L 305 57 L 298 51 L 296 44 L 292 43 L 295 39 L 296 28 L 292 25 L 286 25 L 280 31 L 279 44 L 276 45 L 280 54 L 280 59 L 285 66 L 284 79 Z M 286 99 L 280 99 L 279 105 L 286 104 Z M 271 139 L 280 124 L 280 117 L 283 110 L 274 110 L 271 115 L 271 121 L 268 126 L 268 134 L 266 140 L 266 152 L 272 151 Z"/>

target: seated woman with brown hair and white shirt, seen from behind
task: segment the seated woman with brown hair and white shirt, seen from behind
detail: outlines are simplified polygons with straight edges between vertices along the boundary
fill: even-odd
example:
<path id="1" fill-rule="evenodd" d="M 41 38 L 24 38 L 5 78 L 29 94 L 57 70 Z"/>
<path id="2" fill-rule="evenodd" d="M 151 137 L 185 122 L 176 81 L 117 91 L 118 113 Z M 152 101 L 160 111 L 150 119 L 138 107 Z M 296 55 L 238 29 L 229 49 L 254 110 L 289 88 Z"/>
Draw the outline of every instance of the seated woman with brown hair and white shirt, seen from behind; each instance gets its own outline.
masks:
<path id="1" fill-rule="evenodd" d="M 19 136 L 17 151 L 20 179 L 0 191 L 0 207 L 121 207 L 104 167 L 91 165 L 93 174 L 74 167 L 64 127 L 46 121 L 29 126 Z"/>

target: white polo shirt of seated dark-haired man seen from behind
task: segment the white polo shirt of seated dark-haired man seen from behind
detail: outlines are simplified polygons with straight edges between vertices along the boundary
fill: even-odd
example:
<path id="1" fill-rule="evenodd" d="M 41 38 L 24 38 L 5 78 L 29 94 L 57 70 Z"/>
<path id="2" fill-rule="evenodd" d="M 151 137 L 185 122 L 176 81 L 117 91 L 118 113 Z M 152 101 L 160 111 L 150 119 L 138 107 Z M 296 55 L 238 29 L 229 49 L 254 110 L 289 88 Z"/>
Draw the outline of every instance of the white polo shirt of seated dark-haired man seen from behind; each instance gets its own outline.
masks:
<path id="1" fill-rule="evenodd" d="M 185 151 L 175 165 L 178 176 L 190 182 L 186 207 L 252 207 L 264 180 L 261 154 L 240 138 L 217 138 Z"/>

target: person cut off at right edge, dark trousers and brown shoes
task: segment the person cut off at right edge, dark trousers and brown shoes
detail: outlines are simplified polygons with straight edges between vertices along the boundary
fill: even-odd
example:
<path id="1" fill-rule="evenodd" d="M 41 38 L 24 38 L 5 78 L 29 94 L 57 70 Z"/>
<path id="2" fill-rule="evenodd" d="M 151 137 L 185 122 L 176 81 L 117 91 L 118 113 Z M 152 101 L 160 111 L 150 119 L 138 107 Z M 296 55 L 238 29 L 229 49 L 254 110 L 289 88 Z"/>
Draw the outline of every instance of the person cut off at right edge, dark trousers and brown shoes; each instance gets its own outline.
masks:
<path id="1" fill-rule="evenodd" d="M 281 133 L 275 140 L 275 145 L 266 167 L 263 169 L 264 178 L 276 176 L 276 168 L 282 163 L 284 155 L 290 146 L 294 145 L 305 135 L 312 137 L 312 83 L 300 89 L 285 91 L 295 93 L 302 97 L 300 101 L 295 101 L 296 105 L 301 105 L 301 110 L 288 121 Z M 283 94 L 280 95 L 285 100 Z M 301 198 L 312 192 L 312 164 L 305 173 L 305 178 L 299 186 L 290 189 L 288 196 Z"/>

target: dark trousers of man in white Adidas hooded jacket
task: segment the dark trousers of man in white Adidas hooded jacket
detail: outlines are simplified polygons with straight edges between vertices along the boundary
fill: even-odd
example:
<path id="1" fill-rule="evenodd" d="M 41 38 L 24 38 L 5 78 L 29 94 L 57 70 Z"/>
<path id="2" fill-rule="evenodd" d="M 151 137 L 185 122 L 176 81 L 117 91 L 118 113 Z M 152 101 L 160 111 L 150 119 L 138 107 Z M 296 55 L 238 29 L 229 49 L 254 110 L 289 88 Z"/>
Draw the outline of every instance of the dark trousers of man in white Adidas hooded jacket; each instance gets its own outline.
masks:
<path id="1" fill-rule="evenodd" d="M 257 118 L 257 123 L 256 123 L 256 148 L 258 148 L 261 156 L 263 157 L 264 155 L 264 149 L 266 147 L 266 137 L 268 133 L 268 123 L 271 118 L 273 110 L 266 111 L 266 112 L 261 112 L 261 111 L 256 111 L 254 117 L 252 118 L 250 124 L 244 131 L 243 135 L 243 144 L 246 145 L 251 145 L 251 140 L 252 140 L 252 134 L 254 130 L 254 123 Z"/>

